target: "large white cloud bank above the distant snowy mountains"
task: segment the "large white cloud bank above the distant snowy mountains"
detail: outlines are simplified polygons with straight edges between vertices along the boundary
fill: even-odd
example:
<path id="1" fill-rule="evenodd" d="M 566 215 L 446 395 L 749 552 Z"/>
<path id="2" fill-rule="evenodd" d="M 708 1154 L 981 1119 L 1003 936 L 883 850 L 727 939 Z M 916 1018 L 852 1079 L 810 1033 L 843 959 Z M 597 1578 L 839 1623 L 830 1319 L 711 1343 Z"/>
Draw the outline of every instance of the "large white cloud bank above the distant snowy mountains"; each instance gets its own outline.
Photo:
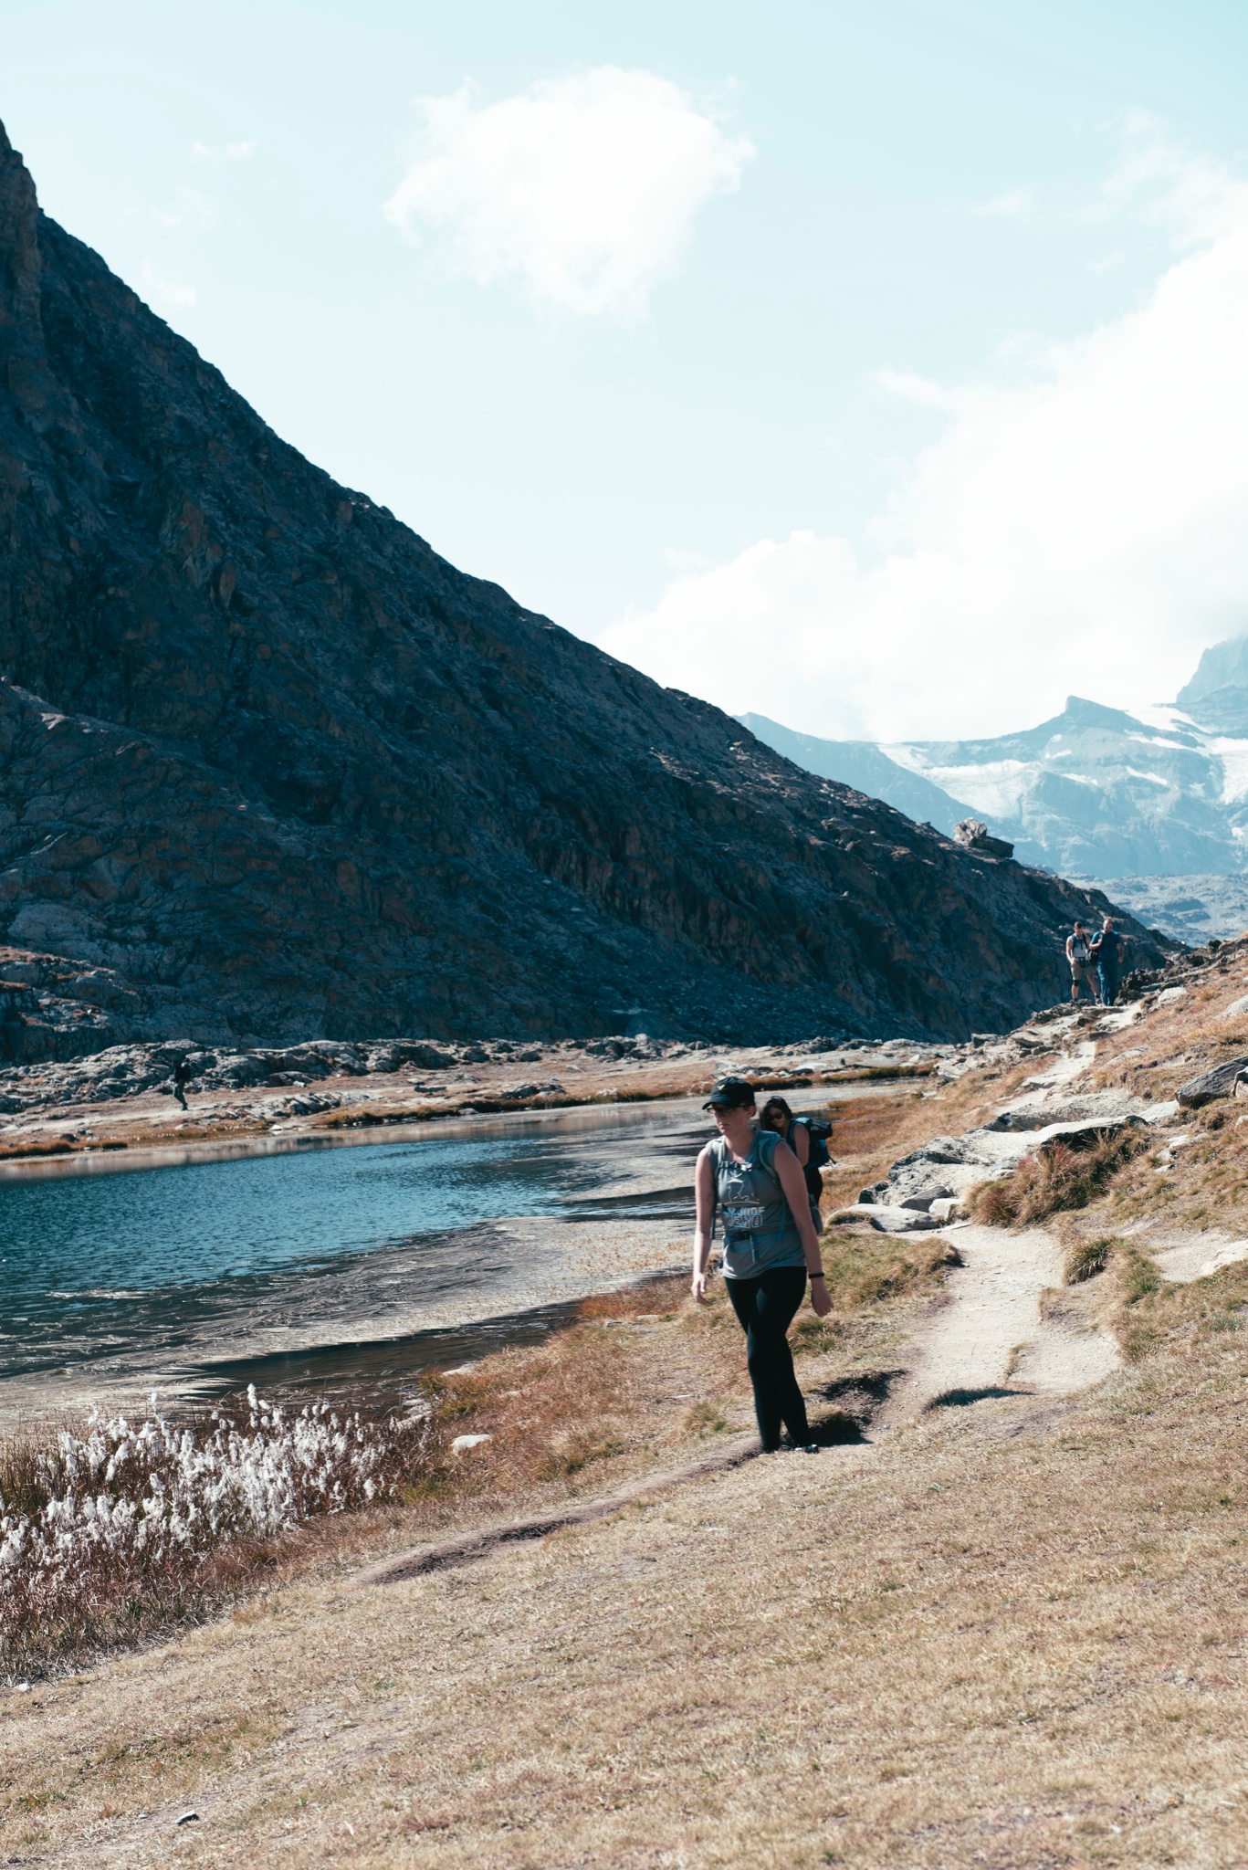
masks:
<path id="1" fill-rule="evenodd" d="M 887 380 L 949 423 L 864 540 L 762 540 L 602 645 L 735 712 L 892 741 L 1164 699 L 1248 630 L 1248 185 L 1154 140 L 1108 196 L 1181 247 L 1138 310 L 1016 387 Z"/>

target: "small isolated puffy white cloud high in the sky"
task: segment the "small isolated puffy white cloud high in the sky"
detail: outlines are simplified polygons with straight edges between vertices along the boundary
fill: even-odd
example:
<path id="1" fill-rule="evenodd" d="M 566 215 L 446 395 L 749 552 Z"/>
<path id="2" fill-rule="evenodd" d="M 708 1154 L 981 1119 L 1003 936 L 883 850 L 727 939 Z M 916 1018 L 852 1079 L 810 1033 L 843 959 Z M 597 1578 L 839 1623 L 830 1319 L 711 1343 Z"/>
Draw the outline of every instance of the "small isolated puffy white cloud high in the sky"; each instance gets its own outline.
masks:
<path id="1" fill-rule="evenodd" d="M 419 99 L 425 135 L 384 213 L 449 237 L 488 286 L 518 279 L 544 307 L 646 309 L 698 209 L 732 191 L 752 146 L 651 71 L 601 65 L 479 105 L 468 86 Z"/>

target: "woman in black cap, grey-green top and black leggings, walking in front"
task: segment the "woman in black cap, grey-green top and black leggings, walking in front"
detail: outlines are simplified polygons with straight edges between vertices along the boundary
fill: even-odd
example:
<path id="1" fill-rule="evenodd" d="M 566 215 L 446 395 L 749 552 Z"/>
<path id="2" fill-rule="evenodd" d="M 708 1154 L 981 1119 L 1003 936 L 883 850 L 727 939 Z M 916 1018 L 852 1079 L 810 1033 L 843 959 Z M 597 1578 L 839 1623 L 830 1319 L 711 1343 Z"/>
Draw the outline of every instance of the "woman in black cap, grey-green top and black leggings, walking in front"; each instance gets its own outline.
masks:
<path id="1" fill-rule="evenodd" d="M 788 1328 L 806 1292 L 818 1318 L 833 1309 L 823 1279 L 820 1240 L 801 1163 L 775 1129 L 754 1126 L 754 1086 L 743 1077 L 715 1081 L 704 1109 L 718 1137 L 698 1156 L 698 1227 L 692 1292 L 705 1303 L 711 1232 L 724 1227 L 724 1281 L 745 1331 L 745 1361 L 754 1386 L 754 1414 L 763 1455 L 780 1447 L 788 1429 L 793 1447 L 816 1453 L 806 1404 L 793 1374 Z"/>

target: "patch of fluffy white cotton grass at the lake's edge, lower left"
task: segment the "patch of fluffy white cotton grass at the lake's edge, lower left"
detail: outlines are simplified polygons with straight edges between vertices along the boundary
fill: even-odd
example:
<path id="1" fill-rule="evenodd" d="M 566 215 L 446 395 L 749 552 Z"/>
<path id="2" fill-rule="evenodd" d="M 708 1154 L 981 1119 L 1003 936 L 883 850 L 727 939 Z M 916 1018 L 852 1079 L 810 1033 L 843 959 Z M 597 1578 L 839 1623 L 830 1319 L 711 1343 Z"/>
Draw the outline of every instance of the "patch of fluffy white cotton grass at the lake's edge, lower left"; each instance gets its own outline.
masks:
<path id="1" fill-rule="evenodd" d="M 202 1590 L 213 1554 L 322 1513 L 393 1498 L 421 1466 L 427 1421 L 247 1391 L 238 1414 L 178 1425 L 95 1414 L 84 1432 L 0 1460 L 0 1653 L 32 1655 L 138 1629 Z"/>

